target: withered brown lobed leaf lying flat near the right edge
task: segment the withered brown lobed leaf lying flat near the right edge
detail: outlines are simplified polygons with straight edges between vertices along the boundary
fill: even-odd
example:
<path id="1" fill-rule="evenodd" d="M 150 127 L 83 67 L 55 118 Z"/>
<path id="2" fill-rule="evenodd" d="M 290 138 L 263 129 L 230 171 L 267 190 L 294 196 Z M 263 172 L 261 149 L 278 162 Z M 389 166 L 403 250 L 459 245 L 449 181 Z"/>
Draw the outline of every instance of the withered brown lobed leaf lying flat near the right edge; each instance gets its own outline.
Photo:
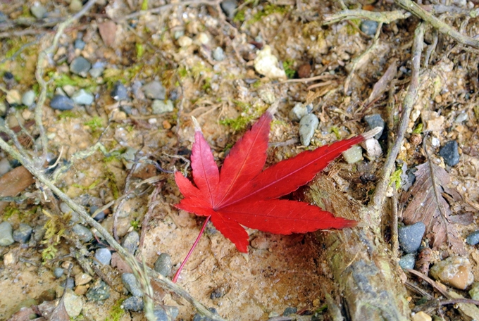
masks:
<path id="1" fill-rule="evenodd" d="M 449 218 L 451 208 L 442 196 L 443 191 L 454 195 L 454 191 L 447 187 L 449 174 L 443 168 L 426 162 L 418 166 L 414 175 L 416 182 L 401 199 L 403 204 L 411 199 L 404 210 L 404 223 L 409 225 L 423 222 L 426 237 L 432 241 L 433 248 L 439 248 L 447 241 L 452 251 L 465 254 L 464 242 Z"/>

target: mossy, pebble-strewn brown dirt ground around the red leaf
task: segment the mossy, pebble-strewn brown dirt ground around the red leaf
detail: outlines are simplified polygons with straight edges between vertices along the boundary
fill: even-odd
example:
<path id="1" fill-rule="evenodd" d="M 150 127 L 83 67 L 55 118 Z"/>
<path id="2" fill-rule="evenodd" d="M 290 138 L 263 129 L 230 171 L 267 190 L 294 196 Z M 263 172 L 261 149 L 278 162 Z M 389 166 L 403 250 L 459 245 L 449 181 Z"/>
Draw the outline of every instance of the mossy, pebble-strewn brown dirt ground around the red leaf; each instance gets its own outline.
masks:
<path id="1" fill-rule="evenodd" d="M 4 106 L 0 112 L 4 123 L 20 132 L 20 144 L 34 157 L 41 153 L 34 146 L 42 134 L 34 121 L 35 103 L 25 106 L 17 96 L 33 90 L 38 101 L 42 89 L 35 78 L 39 53 L 54 44 L 58 24 L 81 8 L 81 1 L 77 2 L 0 2 L 0 12 L 4 14 L 4 18 L 0 16 L 0 84 L 6 89 L 0 92 Z M 173 277 L 204 222 L 204 218 L 174 207 L 182 195 L 173 170 L 191 175 L 191 117 L 199 121 L 218 165 L 273 101 L 279 102 L 279 108 L 271 126 L 267 165 L 366 132 L 369 127 L 363 120 L 365 115 L 379 114 L 393 128 L 411 81 L 411 44 L 419 22 L 410 17 L 381 25 L 376 42 L 375 28 L 371 33 L 361 27 L 365 19 L 324 24 L 328 14 L 341 10 L 342 1 L 239 1 L 232 5 L 235 11 L 225 4 L 222 10 L 219 2 L 172 2 L 97 1 L 80 20 L 66 27 L 54 52 L 44 58 L 40 76 L 46 81 L 42 122 L 48 139 L 47 160 L 54 165 L 49 179 L 88 210 L 110 204 L 101 225 L 120 241 L 136 230 L 142 236 L 136 256 L 143 257 L 150 267 L 159 254 L 168 253 L 173 263 L 168 277 Z M 447 5 L 458 11 L 436 13 L 442 20 L 471 37 L 479 33 L 477 18 L 468 15 L 476 8 L 474 1 L 448 1 Z M 35 17 L 34 6 L 45 9 L 44 18 Z M 150 10 L 139 11 L 141 6 Z M 371 12 L 398 9 L 392 1 L 346 1 L 345 6 Z M 434 51 L 430 51 L 428 63 L 421 65 L 418 99 L 395 170 L 406 172 L 430 160 L 449 173 L 449 188 L 459 198 L 447 199 L 448 204 L 452 215 L 468 217 L 466 225 L 454 226 L 464 244 L 462 256 L 470 260 L 477 280 L 477 246 L 466 244 L 465 239 L 479 229 L 479 60 L 476 49 L 443 34 L 436 35 L 432 27 L 425 32 L 425 51 Z M 75 44 L 77 39 L 83 42 L 82 49 Z M 361 56 L 375 42 L 373 50 Z M 276 65 L 285 70 L 284 79 L 258 72 L 254 61 L 266 45 L 278 58 Z M 100 75 L 74 75 L 71 63 L 79 56 L 93 68 L 99 63 Z M 382 85 L 382 94 L 368 101 L 374 85 L 391 64 L 397 65 L 394 86 L 390 80 Z M 166 112 L 155 112 L 154 99 L 139 89 L 155 80 L 166 89 L 163 99 L 157 100 L 165 102 L 163 105 L 172 103 L 173 108 Z M 127 89 L 126 98 L 120 101 L 111 95 L 116 82 Z M 59 111 L 51 108 L 58 89 L 66 94 L 68 89 L 85 89 L 94 101 Z M 388 109 L 391 101 L 395 103 L 392 112 Z M 290 115 L 297 103 L 311 103 L 312 113 L 320 120 L 310 146 L 301 146 L 299 123 Z M 329 165 L 325 175 L 335 181 L 338 193 L 363 204 L 370 201 L 385 161 L 388 132 L 394 135 L 394 129 L 385 130 L 379 139 L 381 156 L 367 156 L 363 151 L 364 157 L 357 163 L 348 164 L 339 158 Z M 428 144 L 425 149 L 423 140 Z M 459 163 L 449 166 L 439 151 L 440 146 L 452 140 L 459 145 L 460 158 Z M 6 151 L 1 151 L 0 156 L 12 167 L 19 165 Z M 396 179 L 401 174 L 397 170 Z M 405 180 L 392 183 L 399 184 L 398 191 L 394 191 L 399 200 L 406 193 Z M 6 193 L 13 187 L 4 181 L 2 184 L 1 195 L 25 198 L 3 202 L 0 222 L 10 222 L 13 229 L 18 229 L 20 223 L 34 227 L 29 242 L 0 246 L 0 320 L 8 320 L 21 306 L 61 298 L 66 275 L 57 279 L 54 269 L 72 263 L 70 275 L 80 275 L 86 271 L 78 258 L 91 263 L 94 251 L 107 244 L 99 235 L 87 243 L 79 241 L 70 232 L 70 218 L 61 214 L 61 201 L 45 192 L 39 182 L 10 194 Z M 392 188 L 390 191 L 392 194 Z M 301 189 L 303 192 L 307 188 Z M 301 193 L 290 197 L 297 198 Z M 406 201 L 399 204 L 400 225 Z M 385 210 L 382 228 L 385 239 L 392 244 L 390 215 Z M 51 225 L 56 227 L 50 236 L 35 231 Z M 328 262 L 321 259 L 323 248 L 317 234 L 284 236 L 254 229 L 247 232 L 250 246 L 249 253 L 244 254 L 209 223 L 178 284 L 228 320 L 329 320 L 327 313 L 323 316 L 328 294 L 322 291 L 321 284 L 331 275 Z M 423 246 L 430 246 L 434 237 L 429 234 Z M 454 254 L 449 245 L 446 241 L 434 248 L 429 263 Z M 46 248 L 54 248 L 54 254 L 47 258 Z M 400 256 L 401 251 L 397 260 Z M 111 265 L 99 270 L 91 275 L 92 282 L 73 288 L 83 306 L 72 319 L 145 320 L 142 312 L 118 309 L 128 297 L 120 279 L 123 270 Z M 85 296 L 97 279 L 107 279 L 111 287 L 110 298 L 104 301 Z M 417 282 L 424 291 L 438 296 L 432 287 L 421 280 Z M 175 306 L 179 310 L 177 320 L 193 320 L 197 311 L 185 299 L 158 284 L 153 287 L 156 305 Z M 470 298 L 467 291 L 460 293 Z M 421 295 L 409 292 L 411 308 L 420 300 Z M 281 319 L 287 308 L 297 309 L 294 317 Z M 471 320 L 452 306 L 429 314 L 440 315 L 442 320 Z"/>

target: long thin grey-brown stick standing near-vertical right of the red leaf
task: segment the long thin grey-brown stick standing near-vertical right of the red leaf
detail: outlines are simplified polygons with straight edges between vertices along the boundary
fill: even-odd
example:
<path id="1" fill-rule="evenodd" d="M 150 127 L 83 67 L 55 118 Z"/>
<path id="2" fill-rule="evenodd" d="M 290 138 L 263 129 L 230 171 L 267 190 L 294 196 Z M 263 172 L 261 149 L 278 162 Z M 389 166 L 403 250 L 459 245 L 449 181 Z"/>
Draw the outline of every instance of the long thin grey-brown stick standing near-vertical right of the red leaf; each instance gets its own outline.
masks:
<path id="1" fill-rule="evenodd" d="M 424 30 L 425 23 L 420 23 L 414 32 L 411 84 L 409 85 L 408 92 L 404 97 L 404 101 L 402 102 L 401 121 L 399 122 L 399 128 L 397 129 L 394 145 L 387 153 L 386 162 L 382 167 L 381 180 L 376 186 L 372 202 L 369 204 L 370 208 L 376 208 L 378 210 L 376 213 L 380 212 L 379 209 L 382 208 L 382 205 L 385 202 L 386 190 L 390 184 L 390 175 L 394 169 L 397 154 L 399 153 L 399 149 L 401 149 L 402 141 L 409 125 L 409 117 L 411 115 L 414 101 L 416 101 L 418 96 L 419 71 L 421 69 L 421 52 L 423 51 L 424 44 Z"/>

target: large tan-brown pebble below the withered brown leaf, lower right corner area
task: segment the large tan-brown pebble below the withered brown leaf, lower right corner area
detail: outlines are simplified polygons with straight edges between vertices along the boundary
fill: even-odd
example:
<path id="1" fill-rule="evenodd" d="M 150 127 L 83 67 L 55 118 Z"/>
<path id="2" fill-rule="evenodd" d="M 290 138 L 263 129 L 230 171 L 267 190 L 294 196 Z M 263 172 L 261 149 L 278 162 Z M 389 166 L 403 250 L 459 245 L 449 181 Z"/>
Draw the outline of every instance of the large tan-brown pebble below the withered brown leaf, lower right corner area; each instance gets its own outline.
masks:
<path id="1" fill-rule="evenodd" d="M 474 282 L 472 265 L 467 258 L 461 256 L 449 256 L 449 258 L 435 263 L 430 269 L 430 275 L 444 284 L 460 290 L 465 290 Z"/>

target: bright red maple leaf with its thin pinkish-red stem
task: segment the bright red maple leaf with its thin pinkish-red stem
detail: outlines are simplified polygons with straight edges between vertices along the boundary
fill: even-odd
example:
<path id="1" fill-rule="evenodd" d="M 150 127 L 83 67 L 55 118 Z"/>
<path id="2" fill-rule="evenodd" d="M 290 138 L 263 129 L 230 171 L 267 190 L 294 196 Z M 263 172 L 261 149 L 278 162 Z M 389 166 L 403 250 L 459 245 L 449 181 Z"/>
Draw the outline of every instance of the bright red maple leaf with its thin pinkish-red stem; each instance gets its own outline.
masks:
<path id="1" fill-rule="evenodd" d="M 221 170 L 199 125 L 196 125 L 191 157 L 194 185 L 181 172 L 175 172 L 176 184 L 185 196 L 176 207 L 206 216 L 206 222 L 211 219 L 216 229 L 244 253 L 248 251 L 248 234 L 242 225 L 275 234 L 354 227 L 356 221 L 335 218 L 318 206 L 278 198 L 313 180 L 318 172 L 349 147 L 378 133 L 376 129 L 313 151 L 304 151 L 263 170 L 272 118 L 270 111 L 259 118 L 232 147 Z M 173 282 L 178 279 L 183 264 Z"/>

